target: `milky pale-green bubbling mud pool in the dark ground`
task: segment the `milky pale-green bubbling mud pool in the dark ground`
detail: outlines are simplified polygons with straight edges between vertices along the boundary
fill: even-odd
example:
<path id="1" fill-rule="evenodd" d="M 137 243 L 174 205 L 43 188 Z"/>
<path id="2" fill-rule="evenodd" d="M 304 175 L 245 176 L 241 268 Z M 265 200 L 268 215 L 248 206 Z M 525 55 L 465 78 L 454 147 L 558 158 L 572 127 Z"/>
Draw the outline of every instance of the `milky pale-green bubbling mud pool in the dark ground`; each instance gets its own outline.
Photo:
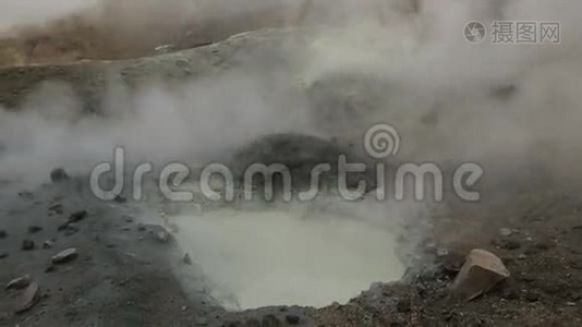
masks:
<path id="1" fill-rule="evenodd" d="M 393 230 L 330 213 L 220 209 L 175 217 L 181 246 L 229 310 L 344 303 L 402 278 Z"/>

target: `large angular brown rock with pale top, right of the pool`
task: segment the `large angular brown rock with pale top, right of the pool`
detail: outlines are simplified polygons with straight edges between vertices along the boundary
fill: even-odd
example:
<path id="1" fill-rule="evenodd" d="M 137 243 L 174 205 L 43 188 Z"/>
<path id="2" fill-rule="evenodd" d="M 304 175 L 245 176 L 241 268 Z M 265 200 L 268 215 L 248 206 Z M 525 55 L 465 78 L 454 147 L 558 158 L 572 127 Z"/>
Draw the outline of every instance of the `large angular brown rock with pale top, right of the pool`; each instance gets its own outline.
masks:
<path id="1" fill-rule="evenodd" d="M 509 276 L 509 270 L 495 254 L 484 250 L 473 250 L 452 282 L 451 290 L 471 301 L 488 292 Z"/>

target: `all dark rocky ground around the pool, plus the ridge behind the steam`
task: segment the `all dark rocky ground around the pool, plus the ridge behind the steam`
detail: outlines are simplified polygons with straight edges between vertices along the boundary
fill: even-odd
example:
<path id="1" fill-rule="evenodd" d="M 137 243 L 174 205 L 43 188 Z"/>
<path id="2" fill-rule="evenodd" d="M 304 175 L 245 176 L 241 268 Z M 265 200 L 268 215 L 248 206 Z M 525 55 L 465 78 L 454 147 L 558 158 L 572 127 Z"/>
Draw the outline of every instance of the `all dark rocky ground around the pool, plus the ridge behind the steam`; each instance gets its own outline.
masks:
<path id="1" fill-rule="evenodd" d="M 263 65 L 292 65 L 268 51 L 289 46 L 280 43 L 281 33 L 141 60 L 2 69 L 0 104 L 14 110 L 40 83 L 61 81 L 73 85 L 87 111 L 99 112 L 111 80 L 130 87 L 151 78 L 180 83 L 228 70 L 265 49 L 272 56 L 263 55 Z M 293 46 L 302 41 L 295 34 L 292 39 Z M 532 177 L 500 175 L 502 183 L 486 185 L 478 204 L 451 202 L 435 210 L 431 232 L 400 282 L 375 283 L 345 304 L 241 313 L 182 289 L 170 268 L 187 265 L 184 254 L 161 221 L 140 221 L 141 208 L 131 202 L 95 201 L 84 177 L 36 190 L 2 181 L 0 281 L 24 279 L 0 291 L 0 325 L 580 326 L 580 187 Z M 71 249 L 77 254 L 53 259 Z M 468 301 L 451 284 L 474 249 L 497 255 L 510 276 Z M 490 281 L 487 271 L 483 276 L 477 280 Z"/>

